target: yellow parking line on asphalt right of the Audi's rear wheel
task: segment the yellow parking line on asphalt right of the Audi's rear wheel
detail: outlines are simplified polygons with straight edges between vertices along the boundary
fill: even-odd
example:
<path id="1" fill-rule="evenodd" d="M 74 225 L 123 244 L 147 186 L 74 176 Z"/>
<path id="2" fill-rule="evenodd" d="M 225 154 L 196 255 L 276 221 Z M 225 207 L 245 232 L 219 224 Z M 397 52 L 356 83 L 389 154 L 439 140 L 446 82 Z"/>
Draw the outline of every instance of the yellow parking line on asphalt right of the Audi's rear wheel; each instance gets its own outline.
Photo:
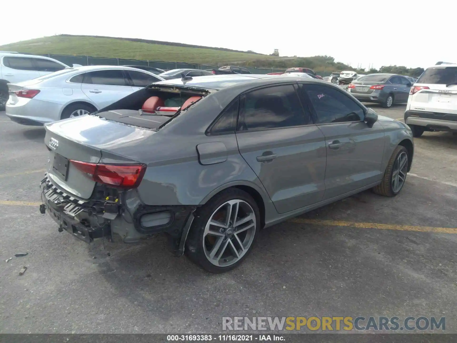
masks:
<path id="1" fill-rule="evenodd" d="M 452 227 L 433 227 L 433 226 L 411 226 L 411 225 L 394 225 L 394 224 L 377 224 L 377 223 L 355 223 L 342 220 L 314 220 L 294 218 L 288 220 L 292 223 L 325 225 L 325 226 L 351 226 L 363 229 L 381 229 L 381 230 L 404 230 L 420 232 L 439 232 L 439 233 L 457 233 L 457 228 Z"/>

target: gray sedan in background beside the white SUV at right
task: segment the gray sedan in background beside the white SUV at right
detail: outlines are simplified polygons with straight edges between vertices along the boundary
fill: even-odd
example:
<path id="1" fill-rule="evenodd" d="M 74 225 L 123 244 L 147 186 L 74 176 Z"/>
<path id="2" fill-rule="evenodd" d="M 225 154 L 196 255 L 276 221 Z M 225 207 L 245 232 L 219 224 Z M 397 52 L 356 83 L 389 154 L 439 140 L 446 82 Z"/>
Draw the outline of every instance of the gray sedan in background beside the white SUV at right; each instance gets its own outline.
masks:
<path id="1" fill-rule="evenodd" d="M 389 108 L 394 103 L 408 102 L 411 86 L 411 81 L 402 75 L 370 74 L 352 81 L 347 91 L 360 101 Z"/>

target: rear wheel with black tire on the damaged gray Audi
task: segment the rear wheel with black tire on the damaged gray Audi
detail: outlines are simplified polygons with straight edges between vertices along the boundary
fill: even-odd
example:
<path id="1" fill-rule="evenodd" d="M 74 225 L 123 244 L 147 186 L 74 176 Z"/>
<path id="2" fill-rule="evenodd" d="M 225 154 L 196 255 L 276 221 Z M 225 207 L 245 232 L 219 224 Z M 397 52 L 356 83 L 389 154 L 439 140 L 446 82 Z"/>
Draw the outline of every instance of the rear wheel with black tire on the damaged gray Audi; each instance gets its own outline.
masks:
<path id="1" fill-rule="evenodd" d="M 255 200 L 240 189 L 228 189 L 197 210 L 186 254 L 207 272 L 227 272 L 249 255 L 259 228 Z"/>

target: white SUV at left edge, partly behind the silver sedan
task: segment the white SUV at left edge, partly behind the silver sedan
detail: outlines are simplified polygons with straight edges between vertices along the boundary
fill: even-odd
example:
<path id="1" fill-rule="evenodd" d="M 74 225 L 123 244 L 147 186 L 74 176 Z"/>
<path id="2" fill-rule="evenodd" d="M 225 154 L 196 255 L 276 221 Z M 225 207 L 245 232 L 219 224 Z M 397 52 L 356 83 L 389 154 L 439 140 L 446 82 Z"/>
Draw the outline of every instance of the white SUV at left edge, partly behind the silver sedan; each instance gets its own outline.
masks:
<path id="1" fill-rule="evenodd" d="M 0 51 L 0 111 L 5 109 L 8 101 L 7 84 L 35 79 L 65 68 L 69 66 L 49 57 Z"/>

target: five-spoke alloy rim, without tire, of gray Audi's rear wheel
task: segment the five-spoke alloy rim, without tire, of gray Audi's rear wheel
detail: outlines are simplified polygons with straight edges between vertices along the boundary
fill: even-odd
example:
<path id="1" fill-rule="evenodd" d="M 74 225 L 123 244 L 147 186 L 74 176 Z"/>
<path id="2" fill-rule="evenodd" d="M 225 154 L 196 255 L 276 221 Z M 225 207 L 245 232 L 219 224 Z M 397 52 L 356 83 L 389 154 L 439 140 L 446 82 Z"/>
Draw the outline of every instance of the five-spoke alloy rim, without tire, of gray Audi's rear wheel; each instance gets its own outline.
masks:
<path id="1" fill-rule="evenodd" d="M 255 213 L 240 199 L 225 202 L 209 218 L 203 233 L 203 249 L 209 262 L 227 267 L 248 252 L 255 236 Z"/>

